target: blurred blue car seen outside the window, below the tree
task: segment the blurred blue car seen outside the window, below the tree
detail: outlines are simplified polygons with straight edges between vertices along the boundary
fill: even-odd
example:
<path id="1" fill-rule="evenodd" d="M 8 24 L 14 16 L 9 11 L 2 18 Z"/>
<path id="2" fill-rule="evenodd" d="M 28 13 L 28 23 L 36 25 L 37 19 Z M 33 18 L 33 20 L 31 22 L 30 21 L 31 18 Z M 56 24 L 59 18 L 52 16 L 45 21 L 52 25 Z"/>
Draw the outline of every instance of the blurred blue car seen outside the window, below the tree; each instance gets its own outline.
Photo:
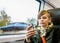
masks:
<path id="1" fill-rule="evenodd" d="M 10 23 L 7 26 L 0 27 L 0 30 L 3 31 L 3 34 L 16 34 L 16 33 L 24 33 L 27 27 L 26 23 L 23 22 L 15 22 Z"/>

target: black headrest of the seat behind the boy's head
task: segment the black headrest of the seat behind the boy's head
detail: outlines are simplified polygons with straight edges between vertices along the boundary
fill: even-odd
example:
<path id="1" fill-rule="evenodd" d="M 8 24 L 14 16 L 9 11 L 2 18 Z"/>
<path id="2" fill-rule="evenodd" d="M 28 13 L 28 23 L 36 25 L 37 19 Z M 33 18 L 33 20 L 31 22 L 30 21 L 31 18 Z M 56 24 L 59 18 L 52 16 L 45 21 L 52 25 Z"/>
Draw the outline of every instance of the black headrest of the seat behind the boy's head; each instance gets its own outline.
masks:
<path id="1" fill-rule="evenodd" d="M 54 25 L 60 25 L 60 8 L 48 10 L 51 13 L 52 22 Z"/>

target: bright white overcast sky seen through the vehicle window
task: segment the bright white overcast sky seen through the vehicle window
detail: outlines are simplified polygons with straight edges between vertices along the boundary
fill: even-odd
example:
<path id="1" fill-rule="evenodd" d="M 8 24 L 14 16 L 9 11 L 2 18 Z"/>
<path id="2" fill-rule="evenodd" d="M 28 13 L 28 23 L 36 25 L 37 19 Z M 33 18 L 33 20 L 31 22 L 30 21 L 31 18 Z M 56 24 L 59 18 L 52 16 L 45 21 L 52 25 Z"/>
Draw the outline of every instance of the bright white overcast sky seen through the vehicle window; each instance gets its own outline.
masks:
<path id="1" fill-rule="evenodd" d="M 37 18 L 39 3 L 35 0 L 0 0 L 0 11 L 4 9 L 11 22 L 26 22 Z"/>

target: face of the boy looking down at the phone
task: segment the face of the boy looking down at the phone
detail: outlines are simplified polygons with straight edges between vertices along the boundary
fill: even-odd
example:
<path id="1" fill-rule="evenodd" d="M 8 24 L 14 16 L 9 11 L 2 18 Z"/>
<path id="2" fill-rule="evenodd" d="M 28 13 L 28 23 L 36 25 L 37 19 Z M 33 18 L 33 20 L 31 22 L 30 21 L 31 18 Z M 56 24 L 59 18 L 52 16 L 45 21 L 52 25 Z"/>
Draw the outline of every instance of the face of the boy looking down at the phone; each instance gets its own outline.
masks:
<path id="1" fill-rule="evenodd" d="M 40 24 L 41 26 L 43 26 L 43 27 L 47 26 L 47 25 L 49 24 L 49 22 L 51 21 L 51 19 L 48 17 L 47 14 L 48 14 L 48 13 L 42 15 L 42 16 L 40 17 L 40 19 L 38 19 L 39 24 Z"/>

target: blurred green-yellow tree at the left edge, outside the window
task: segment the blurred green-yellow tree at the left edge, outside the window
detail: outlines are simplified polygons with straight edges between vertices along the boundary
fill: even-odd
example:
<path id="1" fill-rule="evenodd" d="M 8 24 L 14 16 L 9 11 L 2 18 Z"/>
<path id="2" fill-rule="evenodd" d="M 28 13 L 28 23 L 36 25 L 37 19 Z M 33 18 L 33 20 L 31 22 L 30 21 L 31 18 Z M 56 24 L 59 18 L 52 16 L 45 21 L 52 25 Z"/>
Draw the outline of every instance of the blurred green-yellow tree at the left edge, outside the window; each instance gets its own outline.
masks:
<path id="1" fill-rule="evenodd" d="M 0 26 L 8 25 L 11 21 L 11 17 L 7 15 L 5 10 L 1 10 L 0 14 L 1 14 L 1 16 L 0 16 Z"/>

